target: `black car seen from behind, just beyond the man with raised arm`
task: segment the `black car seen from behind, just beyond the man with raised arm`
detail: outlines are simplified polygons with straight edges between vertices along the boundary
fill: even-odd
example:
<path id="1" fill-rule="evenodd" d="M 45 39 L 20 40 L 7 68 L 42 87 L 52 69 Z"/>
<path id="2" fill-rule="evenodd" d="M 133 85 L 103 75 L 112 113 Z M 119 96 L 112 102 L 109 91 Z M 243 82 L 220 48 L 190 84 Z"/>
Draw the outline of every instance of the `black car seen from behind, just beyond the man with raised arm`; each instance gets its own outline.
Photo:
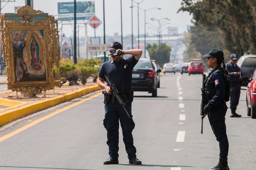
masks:
<path id="1" fill-rule="evenodd" d="M 133 91 L 149 92 L 152 93 L 152 97 L 157 97 L 156 74 L 160 72 L 160 69 L 155 70 L 150 59 L 139 59 L 133 68 L 131 88 Z"/>

